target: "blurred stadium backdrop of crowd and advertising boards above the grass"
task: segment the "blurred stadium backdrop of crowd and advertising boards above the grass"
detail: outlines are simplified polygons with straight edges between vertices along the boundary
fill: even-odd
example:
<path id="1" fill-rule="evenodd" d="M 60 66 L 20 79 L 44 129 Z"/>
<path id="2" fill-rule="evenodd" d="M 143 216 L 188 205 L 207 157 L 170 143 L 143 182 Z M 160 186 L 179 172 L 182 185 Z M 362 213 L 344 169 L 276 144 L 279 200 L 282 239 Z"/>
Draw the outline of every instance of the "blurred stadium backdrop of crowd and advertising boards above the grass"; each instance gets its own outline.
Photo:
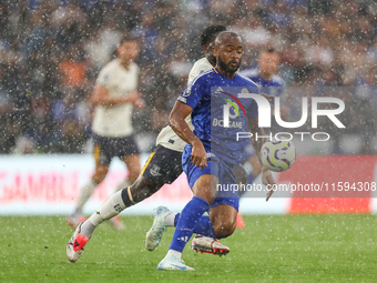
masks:
<path id="1" fill-rule="evenodd" d="M 242 69 L 255 67 L 258 51 L 266 46 L 281 53 L 278 74 L 287 85 L 283 120 L 299 119 L 302 97 L 337 97 L 346 104 L 339 115 L 346 129 L 319 119 L 318 131 L 329 132 L 332 139 L 295 139 L 297 163 L 277 175 L 278 181 L 377 181 L 375 1 L 2 0 L 0 214 L 71 211 L 93 170 L 89 97 L 99 70 L 113 58 L 125 33 L 142 42 L 140 90 L 147 107 L 134 113 L 134 121 L 145 160 L 193 62 L 204 55 L 198 36 L 212 23 L 224 24 L 244 39 Z M 295 131 L 312 132 L 310 121 Z M 124 174 L 115 162 L 86 205 L 88 213 Z M 184 185 L 181 179 L 129 213 L 151 213 L 161 203 L 180 209 L 190 198 Z M 370 190 L 363 199 L 291 196 L 277 194 L 267 204 L 251 198 L 241 209 L 245 213 L 377 211 Z"/>

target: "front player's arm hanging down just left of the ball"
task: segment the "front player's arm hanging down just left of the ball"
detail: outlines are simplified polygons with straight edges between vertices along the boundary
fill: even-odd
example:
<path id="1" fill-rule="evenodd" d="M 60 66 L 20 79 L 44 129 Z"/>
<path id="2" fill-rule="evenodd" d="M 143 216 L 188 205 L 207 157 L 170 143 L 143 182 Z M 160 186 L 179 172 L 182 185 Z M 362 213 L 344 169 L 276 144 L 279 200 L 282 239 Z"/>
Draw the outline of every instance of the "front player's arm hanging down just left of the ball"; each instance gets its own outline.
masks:
<path id="1" fill-rule="evenodd" d="M 256 134 L 257 137 L 264 135 L 263 128 L 258 127 L 258 117 L 248 119 L 248 128 L 253 137 L 256 137 Z M 261 149 L 264 142 L 265 142 L 265 139 L 258 139 L 257 141 L 255 139 L 252 139 L 252 144 L 255 150 L 255 154 L 258 156 L 258 160 L 262 164 L 262 182 L 265 185 L 267 185 L 267 188 L 269 189 L 269 192 L 266 198 L 266 201 L 268 201 L 271 195 L 274 193 L 273 188 L 275 186 L 276 182 L 271 171 L 265 165 L 263 165 L 262 160 L 261 160 Z"/>

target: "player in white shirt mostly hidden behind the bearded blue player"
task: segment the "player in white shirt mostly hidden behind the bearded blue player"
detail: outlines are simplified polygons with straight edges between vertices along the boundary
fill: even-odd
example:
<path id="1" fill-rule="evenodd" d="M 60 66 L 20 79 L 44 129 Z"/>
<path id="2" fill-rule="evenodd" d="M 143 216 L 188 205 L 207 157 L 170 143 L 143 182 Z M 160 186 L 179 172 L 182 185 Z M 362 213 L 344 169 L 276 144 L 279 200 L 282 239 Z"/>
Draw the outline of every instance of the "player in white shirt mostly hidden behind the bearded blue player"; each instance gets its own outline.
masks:
<path id="1" fill-rule="evenodd" d="M 200 73 L 212 69 L 216 63 L 216 58 L 212 53 L 211 43 L 216 36 L 226 30 L 223 26 L 212 26 L 204 30 L 201 36 L 201 43 L 206 53 L 205 58 L 197 60 L 188 74 L 191 82 Z M 214 61 L 213 61 L 214 60 Z M 212 61 L 212 62 L 211 62 Z M 191 123 L 191 118 L 186 118 L 186 122 Z M 79 260 L 83 253 L 83 247 L 93 234 L 94 230 L 105 220 L 109 220 L 124 209 L 130 208 L 144 199 L 151 196 L 159 191 L 163 184 L 172 183 L 182 171 L 182 152 L 185 142 L 176 135 L 170 125 L 161 130 L 156 139 L 156 148 L 151 153 L 137 180 L 130 186 L 118 191 L 113 194 L 95 213 L 93 213 L 85 222 L 81 222 L 74 231 L 72 237 L 67 245 L 67 256 L 71 262 Z M 154 251 L 160 243 L 162 233 L 166 226 L 174 226 L 177 213 L 171 212 L 165 208 L 157 208 L 155 211 L 155 223 L 163 222 L 163 226 L 153 228 L 155 233 L 149 232 L 146 235 L 145 246 L 150 251 Z M 163 221 L 161 221 L 163 220 Z M 196 239 L 196 237 L 195 237 Z M 196 241 L 196 242 L 195 242 Z M 193 241 L 193 249 L 201 252 L 213 254 L 226 254 L 230 249 L 215 239 L 206 236 L 197 237 Z"/>

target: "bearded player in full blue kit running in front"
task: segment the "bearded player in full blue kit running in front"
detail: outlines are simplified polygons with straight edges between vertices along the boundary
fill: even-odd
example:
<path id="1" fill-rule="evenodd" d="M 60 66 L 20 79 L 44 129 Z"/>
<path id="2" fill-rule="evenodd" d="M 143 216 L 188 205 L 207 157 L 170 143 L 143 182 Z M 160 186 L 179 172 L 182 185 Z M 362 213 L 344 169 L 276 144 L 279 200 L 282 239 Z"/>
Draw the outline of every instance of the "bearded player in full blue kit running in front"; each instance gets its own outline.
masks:
<path id="1" fill-rule="evenodd" d="M 157 265 L 159 270 L 193 270 L 185 265 L 181 256 L 194 229 L 197 231 L 200 228 L 201 234 L 216 239 L 230 236 L 234 232 L 238 191 L 218 188 L 236 183 L 233 165 L 240 164 L 244 146 L 249 143 L 246 139 L 236 141 L 237 132 L 249 130 L 253 137 L 256 133 L 259 137 L 264 134 L 263 129 L 258 128 L 256 102 L 245 98 L 247 93 L 258 93 L 258 88 L 253 81 L 237 74 L 243 53 L 241 38 L 234 32 L 221 32 L 213 52 L 217 59 L 216 67 L 194 79 L 170 115 L 170 125 L 187 143 L 182 165 L 194 196 L 177 219 L 171 246 Z M 223 110 L 230 102 L 237 103 L 236 108 L 242 111 L 235 118 L 232 115 L 230 127 L 224 128 Z M 188 114 L 192 115 L 194 132 L 185 122 Z M 252 139 L 257 155 L 263 142 L 263 139 Z M 263 166 L 262 173 L 264 184 L 275 184 L 269 170 Z M 203 216 L 205 212 L 210 216 Z"/>

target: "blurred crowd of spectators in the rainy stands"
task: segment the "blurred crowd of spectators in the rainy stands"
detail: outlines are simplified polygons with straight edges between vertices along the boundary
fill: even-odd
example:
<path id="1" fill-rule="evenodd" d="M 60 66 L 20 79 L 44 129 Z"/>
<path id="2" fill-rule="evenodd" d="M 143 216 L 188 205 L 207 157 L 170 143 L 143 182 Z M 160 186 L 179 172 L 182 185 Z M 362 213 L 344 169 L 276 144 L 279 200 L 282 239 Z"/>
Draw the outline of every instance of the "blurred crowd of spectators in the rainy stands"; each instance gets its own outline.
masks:
<path id="1" fill-rule="evenodd" d="M 142 44 L 140 91 L 147 107 L 134 120 L 150 150 L 204 55 L 198 37 L 210 24 L 241 34 L 241 69 L 274 47 L 287 87 L 347 89 L 335 91 L 347 110 L 335 151 L 347 153 L 342 139 L 355 134 L 361 146 L 348 153 L 376 153 L 377 3 L 366 0 L 2 0 L 0 153 L 89 151 L 89 98 L 123 34 Z M 285 119 L 297 121 L 289 101 L 302 95 L 286 92 Z"/>

